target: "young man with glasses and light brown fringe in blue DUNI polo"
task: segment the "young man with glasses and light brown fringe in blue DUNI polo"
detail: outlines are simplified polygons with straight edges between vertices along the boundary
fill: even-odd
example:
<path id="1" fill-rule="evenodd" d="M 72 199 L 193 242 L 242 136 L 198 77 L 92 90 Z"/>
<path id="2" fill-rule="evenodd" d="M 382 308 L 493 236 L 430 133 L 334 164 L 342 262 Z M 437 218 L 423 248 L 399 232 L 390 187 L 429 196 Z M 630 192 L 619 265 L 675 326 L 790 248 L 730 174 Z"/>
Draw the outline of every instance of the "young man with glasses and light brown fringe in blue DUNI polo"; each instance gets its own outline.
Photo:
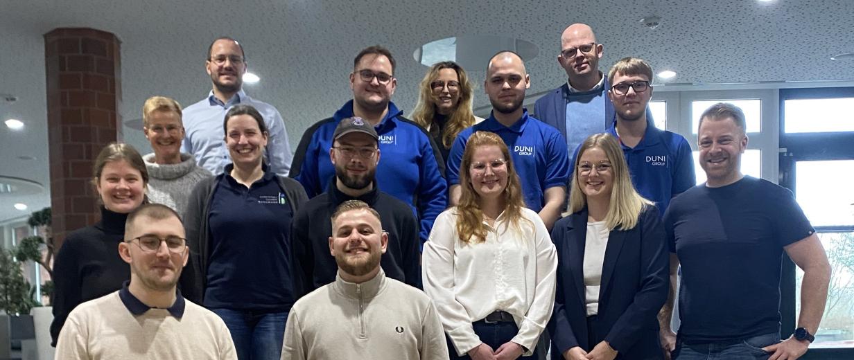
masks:
<path id="1" fill-rule="evenodd" d="M 638 193 L 655 201 L 658 211 L 670 199 L 696 184 L 691 145 L 679 134 L 660 130 L 652 123 L 646 104 L 652 98 L 652 67 L 626 57 L 608 72 L 608 98 L 615 119 L 608 132 L 617 136 Z"/>

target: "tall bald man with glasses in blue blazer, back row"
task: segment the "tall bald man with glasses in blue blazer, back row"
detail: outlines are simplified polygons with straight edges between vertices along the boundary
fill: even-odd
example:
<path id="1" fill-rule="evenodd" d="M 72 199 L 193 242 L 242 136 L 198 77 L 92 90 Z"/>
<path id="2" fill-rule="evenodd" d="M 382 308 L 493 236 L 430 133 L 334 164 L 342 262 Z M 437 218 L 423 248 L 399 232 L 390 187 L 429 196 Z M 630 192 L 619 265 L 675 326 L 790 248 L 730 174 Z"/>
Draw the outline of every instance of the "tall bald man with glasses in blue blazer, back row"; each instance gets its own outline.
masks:
<path id="1" fill-rule="evenodd" d="M 607 96 L 611 84 L 599 71 L 602 48 L 587 24 L 567 26 L 560 35 L 558 63 L 569 78 L 534 104 L 534 116 L 557 128 L 570 151 L 587 136 L 605 132 L 614 120 L 614 106 Z"/>

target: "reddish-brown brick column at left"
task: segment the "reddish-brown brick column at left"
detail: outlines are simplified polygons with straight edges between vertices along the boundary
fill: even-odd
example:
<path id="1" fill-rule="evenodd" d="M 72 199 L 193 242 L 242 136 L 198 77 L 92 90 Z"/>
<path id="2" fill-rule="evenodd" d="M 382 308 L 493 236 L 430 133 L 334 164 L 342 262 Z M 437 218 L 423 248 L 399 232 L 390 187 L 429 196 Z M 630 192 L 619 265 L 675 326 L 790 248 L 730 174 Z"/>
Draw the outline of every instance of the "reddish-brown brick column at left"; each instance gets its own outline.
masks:
<path id="1" fill-rule="evenodd" d="M 120 41 L 110 32 L 57 28 L 44 34 L 50 206 L 56 249 L 68 231 L 101 213 L 91 185 L 101 148 L 121 139 Z"/>

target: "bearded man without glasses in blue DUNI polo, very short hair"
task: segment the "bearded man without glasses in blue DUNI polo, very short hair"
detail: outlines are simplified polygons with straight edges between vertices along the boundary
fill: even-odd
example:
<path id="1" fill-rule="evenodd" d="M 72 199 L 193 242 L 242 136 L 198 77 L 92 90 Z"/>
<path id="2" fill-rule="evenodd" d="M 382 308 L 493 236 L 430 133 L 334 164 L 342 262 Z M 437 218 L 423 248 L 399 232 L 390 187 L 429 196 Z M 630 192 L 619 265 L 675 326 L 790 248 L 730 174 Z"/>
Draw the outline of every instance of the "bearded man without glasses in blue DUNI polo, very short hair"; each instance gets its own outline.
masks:
<path id="1" fill-rule="evenodd" d="M 475 131 L 492 131 L 507 144 L 513 166 L 522 181 L 525 205 L 539 212 L 548 229 L 559 218 L 570 177 L 570 160 L 564 137 L 553 126 L 529 116 L 522 107 L 530 78 L 519 55 L 502 51 L 488 63 L 483 90 L 492 103 L 488 119 L 459 133 L 447 160 L 451 202 L 459 202 L 459 163 L 465 142 Z M 604 131 L 604 129 L 603 129 Z"/>

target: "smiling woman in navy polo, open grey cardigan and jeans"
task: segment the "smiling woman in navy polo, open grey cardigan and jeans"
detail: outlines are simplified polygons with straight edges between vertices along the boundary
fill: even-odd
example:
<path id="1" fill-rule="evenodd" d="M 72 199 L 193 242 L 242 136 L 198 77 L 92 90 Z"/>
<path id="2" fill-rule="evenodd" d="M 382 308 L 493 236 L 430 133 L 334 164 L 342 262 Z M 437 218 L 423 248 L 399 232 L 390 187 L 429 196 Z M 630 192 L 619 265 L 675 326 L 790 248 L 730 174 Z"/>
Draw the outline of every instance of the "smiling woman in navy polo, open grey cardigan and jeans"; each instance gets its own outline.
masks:
<path id="1" fill-rule="evenodd" d="M 223 135 L 233 163 L 196 185 L 184 217 L 182 293 L 223 319 L 238 358 L 279 358 L 295 302 L 290 224 L 307 196 L 264 162 L 269 134 L 254 107 L 231 107 Z"/>

